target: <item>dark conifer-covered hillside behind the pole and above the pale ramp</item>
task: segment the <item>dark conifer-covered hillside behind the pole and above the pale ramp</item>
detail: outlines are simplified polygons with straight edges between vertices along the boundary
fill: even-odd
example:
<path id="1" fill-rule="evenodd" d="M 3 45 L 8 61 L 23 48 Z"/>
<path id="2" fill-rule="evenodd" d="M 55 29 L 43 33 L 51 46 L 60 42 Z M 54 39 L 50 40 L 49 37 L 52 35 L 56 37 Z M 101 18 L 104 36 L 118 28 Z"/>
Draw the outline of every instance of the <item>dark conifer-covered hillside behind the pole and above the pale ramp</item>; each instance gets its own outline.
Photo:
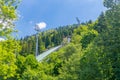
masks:
<path id="1" fill-rule="evenodd" d="M 65 38 L 72 36 L 73 30 L 77 27 L 78 24 L 73 24 L 40 32 L 38 36 L 39 54 L 46 49 L 62 44 Z M 21 39 L 20 45 L 22 47 L 20 54 L 24 56 L 28 54 L 34 54 L 36 46 L 36 34 Z"/>

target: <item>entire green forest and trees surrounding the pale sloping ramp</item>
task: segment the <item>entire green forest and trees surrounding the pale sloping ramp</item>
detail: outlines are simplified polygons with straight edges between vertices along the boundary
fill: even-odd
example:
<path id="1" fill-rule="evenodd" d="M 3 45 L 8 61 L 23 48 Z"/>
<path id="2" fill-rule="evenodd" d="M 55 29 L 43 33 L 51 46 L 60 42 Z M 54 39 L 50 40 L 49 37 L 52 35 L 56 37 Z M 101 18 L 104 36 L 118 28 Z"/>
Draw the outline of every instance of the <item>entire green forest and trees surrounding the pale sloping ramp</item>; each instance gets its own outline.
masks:
<path id="1" fill-rule="evenodd" d="M 0 0 L 0 36 L 6 39 L 0 42 L 0 80 L 120 80 L 120 0 L 104 0 L 107 10 L 94 22 L 40 33 L 39 52 L 71 36 L 42 62 L 34 57 L 35 35 L 11 37 L 18 4 Z"/>

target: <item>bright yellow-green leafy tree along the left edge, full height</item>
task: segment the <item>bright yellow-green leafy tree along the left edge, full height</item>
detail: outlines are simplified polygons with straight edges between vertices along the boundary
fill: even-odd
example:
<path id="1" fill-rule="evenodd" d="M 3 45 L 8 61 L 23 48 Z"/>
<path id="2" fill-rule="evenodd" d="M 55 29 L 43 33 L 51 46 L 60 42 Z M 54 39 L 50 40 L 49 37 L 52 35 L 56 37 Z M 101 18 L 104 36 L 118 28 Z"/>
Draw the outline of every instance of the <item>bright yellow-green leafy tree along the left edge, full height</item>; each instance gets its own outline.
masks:
<path id="1" fill-rule="evenodd" d="M 17 19 L 16 8 L 18 0 L 0 0 L 0 36 L 8 39 L 14 31 L 14 21 Z M 0 79 L 15 77 L 17 66 L 16 56 L 20 51 L 19 42 L 6 40 L 0 42 Z"/>

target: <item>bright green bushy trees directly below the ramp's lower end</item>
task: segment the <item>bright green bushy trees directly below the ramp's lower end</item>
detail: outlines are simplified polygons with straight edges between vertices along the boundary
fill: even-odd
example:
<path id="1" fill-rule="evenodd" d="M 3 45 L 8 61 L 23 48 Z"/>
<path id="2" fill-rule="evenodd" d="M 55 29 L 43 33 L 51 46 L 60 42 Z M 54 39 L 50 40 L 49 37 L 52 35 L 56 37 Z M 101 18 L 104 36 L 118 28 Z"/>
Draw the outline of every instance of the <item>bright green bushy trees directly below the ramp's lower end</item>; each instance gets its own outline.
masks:
<path id="1" fill-rule="evenodd" d="M 14 80 L 53 80 L 49 75 L 46 75 L 45 70 L 48 68 L 45 64 L 37 62 L 33 55 L 27 57 L 18 56 L 16 65 L 16 77 Z"/>

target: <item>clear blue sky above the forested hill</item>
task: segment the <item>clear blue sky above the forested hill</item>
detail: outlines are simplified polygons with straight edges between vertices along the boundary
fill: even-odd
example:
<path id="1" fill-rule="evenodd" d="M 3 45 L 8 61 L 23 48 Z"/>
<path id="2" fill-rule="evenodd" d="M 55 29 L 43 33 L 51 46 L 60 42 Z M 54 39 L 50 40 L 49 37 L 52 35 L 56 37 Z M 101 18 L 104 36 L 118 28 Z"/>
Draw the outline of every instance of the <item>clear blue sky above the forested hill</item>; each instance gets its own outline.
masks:
<path id="1" fill-rule="evenodd" d="M 45 22 L 46 29 L 51 29 L 75 24 L 76 17 L 81 22 L 96 20 L 104 10 L 103 0 L 22 0 L 16 23 L 18 36 L 34 34 L 34 25 L 40 22 Z"/>

